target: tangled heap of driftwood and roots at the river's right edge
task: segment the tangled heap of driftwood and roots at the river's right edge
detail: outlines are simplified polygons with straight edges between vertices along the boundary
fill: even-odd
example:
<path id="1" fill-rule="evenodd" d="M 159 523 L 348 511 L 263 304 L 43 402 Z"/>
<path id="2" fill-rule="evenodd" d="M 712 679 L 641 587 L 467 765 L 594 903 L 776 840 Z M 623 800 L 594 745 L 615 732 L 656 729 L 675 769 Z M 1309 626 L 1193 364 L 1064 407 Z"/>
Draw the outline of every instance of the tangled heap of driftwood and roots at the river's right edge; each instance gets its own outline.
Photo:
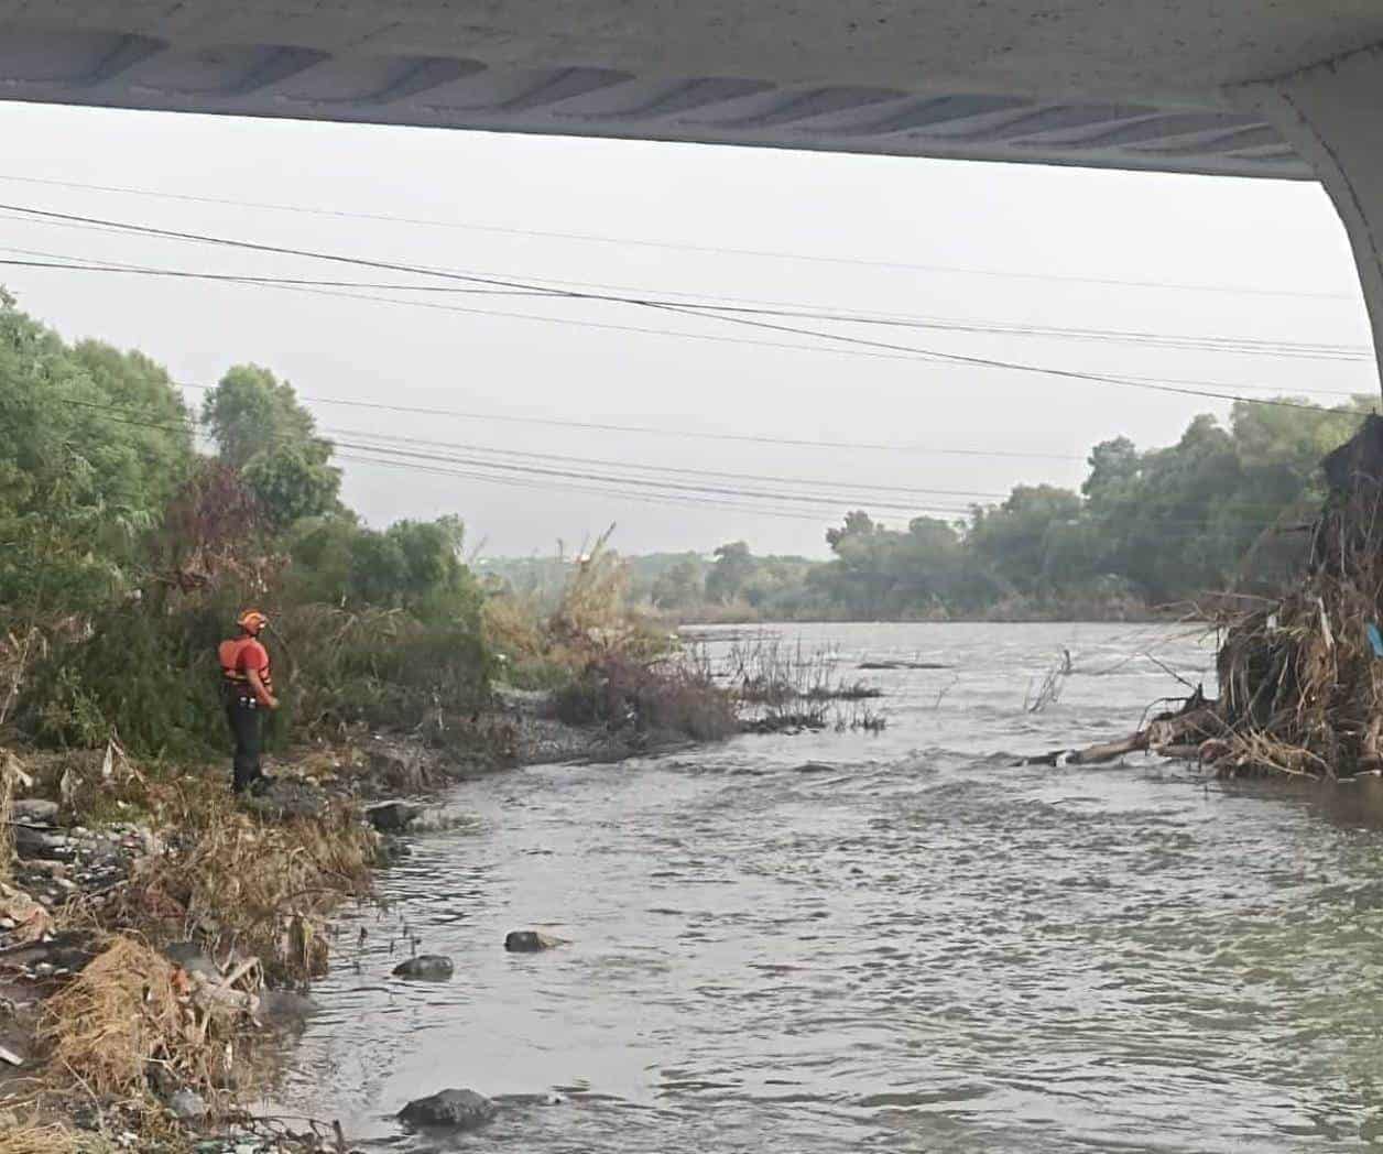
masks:
<path id="1" fill-rule="evenodd" d="M 1122 742 L 1025 764 L 1091 765 L 1151 751 L 1218 776 L 1383 775 L 1383 418 L 1322 462 L 1328 495 L 1300 584 L 1213 624 L 1218 700 L 1199 689 Z"/>

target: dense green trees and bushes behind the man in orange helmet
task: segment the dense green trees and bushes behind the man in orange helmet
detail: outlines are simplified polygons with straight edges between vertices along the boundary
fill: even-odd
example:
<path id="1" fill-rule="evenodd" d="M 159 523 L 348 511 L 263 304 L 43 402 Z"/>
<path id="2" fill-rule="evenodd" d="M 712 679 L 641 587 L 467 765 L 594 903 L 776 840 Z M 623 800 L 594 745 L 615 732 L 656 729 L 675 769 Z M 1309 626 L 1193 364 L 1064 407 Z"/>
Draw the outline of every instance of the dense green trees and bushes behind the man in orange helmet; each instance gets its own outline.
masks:
<path id="1" fill-rule="evenodd" d="M 202 422 L 212 457 L 160 367 L 69 347 L 0 299 L 4 714 L 51 746 L 220 750 L 214 650 L 248 603 L 277 631 L 279 739 L 474 713 L 491 663 L 462 523 L 362 526 L 266 368 L 231 368 Z"/>

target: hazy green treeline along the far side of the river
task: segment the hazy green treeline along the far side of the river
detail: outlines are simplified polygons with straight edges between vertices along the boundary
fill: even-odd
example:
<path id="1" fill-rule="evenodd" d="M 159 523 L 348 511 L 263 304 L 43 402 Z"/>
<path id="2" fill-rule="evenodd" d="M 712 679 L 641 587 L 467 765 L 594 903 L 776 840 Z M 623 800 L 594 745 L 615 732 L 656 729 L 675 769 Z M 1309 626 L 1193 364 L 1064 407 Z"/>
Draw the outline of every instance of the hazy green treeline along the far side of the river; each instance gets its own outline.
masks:
<path id="1" fill-rule="evenodd" d="M 1021 484 L 999 505 L 906 526 L 860 509 L 826 531 L 830 560 L 758 556 L 744 541 L 631 556 L 631 592 L 682 621 L 1130 619 L 1267 592 L 1300 562 L 1321 458 L 1369 408 L 1236 403 L 1228 428 L 1202 414 L 1166 448 L 1097 444 L 1079 493 Z M 480 574 L 545 601 L 568 563 L 491 559 Z"/>

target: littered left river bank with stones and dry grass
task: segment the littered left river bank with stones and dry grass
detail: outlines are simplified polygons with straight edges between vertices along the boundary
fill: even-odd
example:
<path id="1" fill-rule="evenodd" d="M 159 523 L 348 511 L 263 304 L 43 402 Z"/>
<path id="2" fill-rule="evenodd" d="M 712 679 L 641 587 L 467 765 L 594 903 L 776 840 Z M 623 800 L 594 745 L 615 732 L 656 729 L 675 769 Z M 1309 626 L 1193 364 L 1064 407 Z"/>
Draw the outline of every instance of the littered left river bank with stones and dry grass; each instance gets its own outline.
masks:
<path id="1" fill-rule="evenodd" d="M 239 801 L 224 765 L 0 750 L 0 1154 L 349 1148 L 245 1106 L 402 836 L 462 782 L 690 744 L 503 688 L 470 724 L 465 754 L 366 731 L 286 750 Z"/>

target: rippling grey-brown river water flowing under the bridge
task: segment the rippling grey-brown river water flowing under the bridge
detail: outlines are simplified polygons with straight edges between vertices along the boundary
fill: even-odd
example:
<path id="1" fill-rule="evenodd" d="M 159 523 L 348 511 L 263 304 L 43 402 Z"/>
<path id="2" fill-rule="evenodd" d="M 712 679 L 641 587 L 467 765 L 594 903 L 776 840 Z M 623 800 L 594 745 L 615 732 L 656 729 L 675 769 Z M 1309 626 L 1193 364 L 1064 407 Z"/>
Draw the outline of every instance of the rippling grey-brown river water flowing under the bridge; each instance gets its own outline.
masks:
<path id="1" fill-rule="evenodd" d="M 1209 649 L 1129 625 L 786 627 L 878 736 L 741 738 L 467 785 L 383 879 L 282 1097 L 371 1150 L 470 1086 L 458 1148 L 1344 1151 L 1383 1143 L 1383 833 L 1185 768 L 1012 769 L 1111 739 Z M 721 643 L 723 646 L 723 642 Z M 1023 711 L 1069 646 L 1058 704 Z M 443 985 L 394 981 L 408 946 Z M 506 955 L 505 933 L 571 940 Z M 366 931 L 358 952 L 354 940 Z M 358 969 L 357 969 L 358 966 Z"/>

